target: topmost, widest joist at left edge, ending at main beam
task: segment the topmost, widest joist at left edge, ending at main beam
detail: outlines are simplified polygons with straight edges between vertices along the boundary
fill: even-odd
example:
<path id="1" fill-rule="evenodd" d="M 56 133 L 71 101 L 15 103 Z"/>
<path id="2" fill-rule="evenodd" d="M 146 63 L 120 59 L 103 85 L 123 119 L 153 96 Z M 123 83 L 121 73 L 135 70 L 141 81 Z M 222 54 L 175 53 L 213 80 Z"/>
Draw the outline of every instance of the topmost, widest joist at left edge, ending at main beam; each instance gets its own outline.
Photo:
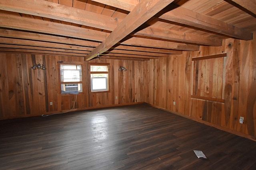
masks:
<path id="1" fill-rule="evenodd" d="M 103 17 L 101 14 L 96 14 L 94 12 L 88 12 L 85 10 L 63 6 L 47 1 L 1 0 L 0 10 L 19 12 L 23 13 L 22 15 L 29 14 L 34 16 L 41 16 L 54 20 L 60 20 L 62 22 L 66 21 L 70 24 L 76 23 L 110 31 L 114 30 L 118 23 L 117 20 L 112 17 Z"/>

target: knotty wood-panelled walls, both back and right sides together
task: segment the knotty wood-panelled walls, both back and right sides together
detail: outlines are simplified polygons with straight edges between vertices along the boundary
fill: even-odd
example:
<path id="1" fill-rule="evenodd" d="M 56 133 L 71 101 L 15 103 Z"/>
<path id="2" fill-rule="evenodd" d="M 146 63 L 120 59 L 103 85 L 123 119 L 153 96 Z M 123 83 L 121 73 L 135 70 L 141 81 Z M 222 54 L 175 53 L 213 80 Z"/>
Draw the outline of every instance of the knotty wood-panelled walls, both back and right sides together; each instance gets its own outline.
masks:
<path id="1" fill-rule="evenodd" d="M 200 59 L 225 53 L 226 57 Z M 256 38 L 226 39 L 221 47 L 205 46 L 144 62 L 94 59 L 90 63 L 110 63 L 110 92 L 100 93 L 89 92 L 88 62 L 82 57 L 0 53 L 0 119 L 70 110 L 76 96 L 60 94 L 58 61 L 84 63 L 83 92 L 77 96 L 75 110 L 146 102 L 231 133 L 256 137 Z M 47 69 L 33 70 L 34 63 L 43 63 Z M 128 71 L 118 71 L 119 66 Z M 244 124 L 239 123 L 240 116 Z"/>

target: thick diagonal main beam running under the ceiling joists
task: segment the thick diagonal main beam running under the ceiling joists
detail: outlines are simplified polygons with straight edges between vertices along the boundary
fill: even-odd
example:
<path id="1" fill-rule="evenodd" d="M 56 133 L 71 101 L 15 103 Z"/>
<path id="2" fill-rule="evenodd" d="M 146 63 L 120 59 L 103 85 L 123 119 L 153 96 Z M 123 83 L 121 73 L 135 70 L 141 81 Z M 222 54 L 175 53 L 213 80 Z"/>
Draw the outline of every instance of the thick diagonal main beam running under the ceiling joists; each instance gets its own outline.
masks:
<path id="1" fill-rule="evenodd" d="M 98 53 L 101 54 L 110 49 L 173 1 L 174 0 L 144 0 L 139 2 L 106 40 L 86 56 L 86 61 L 93 59 Z"/>

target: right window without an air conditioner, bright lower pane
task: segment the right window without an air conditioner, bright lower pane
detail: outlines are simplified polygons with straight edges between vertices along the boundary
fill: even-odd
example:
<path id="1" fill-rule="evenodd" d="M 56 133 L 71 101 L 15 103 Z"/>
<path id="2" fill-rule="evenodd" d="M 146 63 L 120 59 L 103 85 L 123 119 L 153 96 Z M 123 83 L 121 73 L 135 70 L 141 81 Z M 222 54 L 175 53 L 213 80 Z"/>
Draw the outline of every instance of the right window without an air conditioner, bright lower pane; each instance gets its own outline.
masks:
<path id="1" fill-rule="evenodd" d="M 108 65 L 90 65 L 91 92 L 108 91 Z"/>

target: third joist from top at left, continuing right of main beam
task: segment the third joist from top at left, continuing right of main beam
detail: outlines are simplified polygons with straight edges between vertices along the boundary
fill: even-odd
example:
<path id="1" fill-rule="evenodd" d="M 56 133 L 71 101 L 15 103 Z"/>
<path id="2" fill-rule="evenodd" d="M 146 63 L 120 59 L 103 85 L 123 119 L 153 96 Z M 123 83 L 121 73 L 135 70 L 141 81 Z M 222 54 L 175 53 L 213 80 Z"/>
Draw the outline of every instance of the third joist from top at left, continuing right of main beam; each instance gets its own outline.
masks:
<path id="1" fill-rule="evenodd" d="M 97 47 L 100 44 L 98 42 L 93 42 L 93 41 L 86 41 L 86 40 L 73 39 L 73 38 L 67 38 L 67 37 L 58 37 L 58 36 L 45 35 L 40 33 L 16 31 L 16 30 L 10 30 L 10 29 L 0 29 L 0 37 L 46 41 L 46 42 L 63 43 L 63 44 L 70 44 L 70 45 L 82 45 L 86 47 Z M 142 52 L 144 51 L 144 52 L 151 52 L 151 53 L 182 54 L 182 51 L 177 51 L 177 50 L 134 47 L 134 46 L 127 46 L 127 45 L 118 45 L 114 49 L 142 51 Z"/>

